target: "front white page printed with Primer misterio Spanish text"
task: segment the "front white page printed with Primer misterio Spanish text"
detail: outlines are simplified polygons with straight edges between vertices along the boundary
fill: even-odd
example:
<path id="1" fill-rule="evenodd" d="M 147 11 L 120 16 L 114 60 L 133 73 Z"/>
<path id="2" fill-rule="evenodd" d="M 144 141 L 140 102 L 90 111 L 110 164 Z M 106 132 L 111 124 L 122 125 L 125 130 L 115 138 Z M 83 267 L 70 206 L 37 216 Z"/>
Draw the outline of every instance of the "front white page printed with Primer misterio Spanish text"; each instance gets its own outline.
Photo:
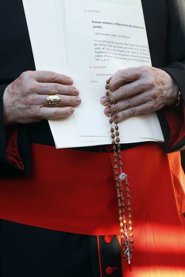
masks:
<path id="1" fill-rule="evenodd" d="M 120 1 L 117 2 L 120 3 Z M 131 3 L 130 1 L 126 2 Z M 121 68 L 151 65 L 142 7 L 139 5 L 141 1 L 133 1 L 132 3 L 134 2 L 137 2 L 138 6 L 115 4 L 115 1 L 84 2 L 65 0 L 69 64 L 71 68 L 75 68 L 75 70 L 71 69 L 73 71 L 72 75 L 75 79 L 75 86 L 80 90 L 80 97 L 82 98 L 82 103 L 77 107 L 74 114 L 80 135 L 93 136 L 96 130 L 98 136 L 109 136 L 108 119 L 103 114 L 104 107 L 99 100 L 105 93 L 105 81 L 109 76 Z M 73 7 L 72 9 L 71 6 Z M 98 12 L 89 12 L 96 10 Z M 108 14 L 109 17 L 107 16 Z M 109 25 L 92 23 L 92 21 L 114 23 Z M 140 28 L 117 27 L 114 25 L 116 22 L 120 24 L 124 22 L 128 26 L 134 25 Z M 100 26 L 102 28 L 97 29 L 92 28 L 92 26 Z M 109 35 L 101 35 L 101 33 Z M 120 37 L 114 37 L 118 35 Z M 94 45 L 95 43 L 97 45 Z M 143 45 L 144 47 L 129 47 L 129 44 L 134 46 L 136 44 Z M 117 49 L 113 48 L 114 46 L 121 46 L 123 48 Z M 127 50 L 124 50 L 126 47 Z M 130 50 L 129 48 L 133 49 Z M 142 55 L 140 49 L 144 50 Z M 126 53 L 121 53 L 121 56 L 119 56 L 120 52 L 117 52 L 117 50 L 129 52 L 130 60 L 125 56 Z M 105 52 L 111 52 L 111 54 L 105 54 Z M 136 54 L 131 54 L 131 52 Z M 131 55 L 136 57 L 131 58 Z M 109 58 L 109 56 L 114 58 Z M 93 68 L 96 66 L 101 67 L 101 69 Z M 107 76 L 97 76 L 97 74 L 107 74 Z M 86 122 L 90 122 L 86 128 L 84 128 L 84 115 Z M 144 136 L 146 138 L 152 137 L 157 140 L 163 140 L 156 113 L 128 118 L 121 124 L 119 123 L 119 128 L 121 134 L 126 130 L 124 137 L 142 138 Z"/>

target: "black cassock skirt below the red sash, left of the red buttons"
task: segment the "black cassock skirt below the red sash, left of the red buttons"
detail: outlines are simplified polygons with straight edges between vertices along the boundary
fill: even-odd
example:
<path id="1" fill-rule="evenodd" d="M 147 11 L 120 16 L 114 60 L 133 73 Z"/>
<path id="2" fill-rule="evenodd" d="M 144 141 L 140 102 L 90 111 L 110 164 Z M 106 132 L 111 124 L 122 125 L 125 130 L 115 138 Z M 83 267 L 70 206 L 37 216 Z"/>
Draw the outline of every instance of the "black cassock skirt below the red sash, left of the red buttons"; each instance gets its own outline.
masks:
<path id="1" fill-rule="evenodd" d="M 88 235 L 0 222 L 1 277 L 100 277 L 98 271 L 92 273 L 96 236 L 90 248 Z"/>

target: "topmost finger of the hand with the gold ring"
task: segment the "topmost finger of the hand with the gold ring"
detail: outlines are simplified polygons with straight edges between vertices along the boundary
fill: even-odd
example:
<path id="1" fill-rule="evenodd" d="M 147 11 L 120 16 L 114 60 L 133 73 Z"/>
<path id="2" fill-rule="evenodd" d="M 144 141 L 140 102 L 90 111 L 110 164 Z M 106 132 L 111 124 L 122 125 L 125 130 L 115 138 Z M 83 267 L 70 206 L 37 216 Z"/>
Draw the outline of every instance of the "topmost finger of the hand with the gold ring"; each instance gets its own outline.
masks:
<path id="1" fill-rule="evenodd" d="M 71 77 L 53 71 L 34 71 L 34 76 L 38 82 L 58 83 L 63 85 L 73 84 L 73 79 Z"/>

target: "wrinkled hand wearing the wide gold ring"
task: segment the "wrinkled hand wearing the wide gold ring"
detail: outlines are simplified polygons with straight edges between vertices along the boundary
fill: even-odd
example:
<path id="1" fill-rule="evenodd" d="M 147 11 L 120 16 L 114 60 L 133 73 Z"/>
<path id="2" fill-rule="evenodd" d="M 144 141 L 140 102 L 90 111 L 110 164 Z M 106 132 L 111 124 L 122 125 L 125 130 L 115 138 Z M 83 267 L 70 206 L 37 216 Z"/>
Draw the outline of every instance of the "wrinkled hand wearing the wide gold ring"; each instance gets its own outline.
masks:
<path id="1" fill-rule="evenodd" d="M 4 125 L 70 116 L 74 112 L 71 106 L 81 102 L 79 91 L 72 84 L 72 78 L 52 71 L 23 72 L 4 91 Z M 46 107 L 49 94 L 60 97 L 61 107 Z"/>

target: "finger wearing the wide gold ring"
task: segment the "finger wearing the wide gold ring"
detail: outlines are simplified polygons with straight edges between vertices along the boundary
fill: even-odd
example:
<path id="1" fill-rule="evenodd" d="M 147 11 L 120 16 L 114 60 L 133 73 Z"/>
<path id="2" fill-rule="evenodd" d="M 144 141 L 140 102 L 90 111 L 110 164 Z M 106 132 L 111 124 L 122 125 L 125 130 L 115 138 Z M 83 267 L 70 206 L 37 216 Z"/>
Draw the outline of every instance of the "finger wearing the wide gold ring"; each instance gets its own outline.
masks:
<path id="1" fill-rule="evenodd" d="M 34 105 L 37 104 L 39 106 L 46 106 L 46 98 L 49 95 L 37 95 L 34 98 L 35 103 L 33 103 Z M 57 94 L 57 96 L 60 97 L 61 101 L 60 101 L 60 106 L 78 106 L 81 103 L 81 98 L 80 97 L 76 97 L 76 96 L 68 96 L 68 95 L 61 95 L 61 94 Z"/>

